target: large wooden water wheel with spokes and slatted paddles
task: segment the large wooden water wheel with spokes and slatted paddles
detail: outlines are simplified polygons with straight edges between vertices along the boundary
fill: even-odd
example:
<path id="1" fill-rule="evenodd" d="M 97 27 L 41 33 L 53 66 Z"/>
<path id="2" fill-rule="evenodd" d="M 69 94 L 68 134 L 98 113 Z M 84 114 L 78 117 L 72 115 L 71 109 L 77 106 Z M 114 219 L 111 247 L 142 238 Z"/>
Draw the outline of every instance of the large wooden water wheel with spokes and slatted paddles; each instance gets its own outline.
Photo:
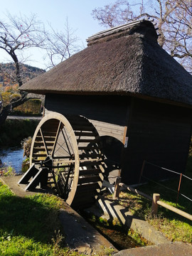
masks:
<path id="1" fill-rule="evenodd" d="M 31 163 L 48 167 L 48 183 L 75 208 L 89 206 L 105 171 L 100 137 L 88 119 L 52 112 L 41 119 L 31 144 Z"/>

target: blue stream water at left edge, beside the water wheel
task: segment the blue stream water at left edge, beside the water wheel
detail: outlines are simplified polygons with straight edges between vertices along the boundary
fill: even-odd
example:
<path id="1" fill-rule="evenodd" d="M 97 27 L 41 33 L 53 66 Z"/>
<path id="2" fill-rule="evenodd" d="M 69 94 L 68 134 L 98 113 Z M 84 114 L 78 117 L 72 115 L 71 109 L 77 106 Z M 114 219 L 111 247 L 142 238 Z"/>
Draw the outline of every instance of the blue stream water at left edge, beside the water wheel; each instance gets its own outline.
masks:
<path id="1" fill-rule="evenodd" d="M 0 159 L 6 166 L 12 166 L 17 174 L 21 174 L 21 166 L 24 160 L 23 149 L 9 148 L 0 150 Z"/>

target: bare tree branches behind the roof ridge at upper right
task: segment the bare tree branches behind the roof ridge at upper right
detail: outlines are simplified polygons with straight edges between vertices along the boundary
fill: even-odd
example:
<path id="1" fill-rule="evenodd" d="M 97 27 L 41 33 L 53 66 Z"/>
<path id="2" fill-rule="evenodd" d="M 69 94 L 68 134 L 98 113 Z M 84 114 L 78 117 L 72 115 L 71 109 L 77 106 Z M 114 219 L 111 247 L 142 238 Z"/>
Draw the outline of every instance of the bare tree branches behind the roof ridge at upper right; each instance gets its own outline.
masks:
<path id="1" fill-rule="evenodd" d="M 139 9 L 136 9 L 137 6 Z M 114 4 L 94 9 L 92 16 L 105 27 L 141 18 L 153 18 L 159 28 L 159 45 L 192 72 L 191 0 L 151 0 L 145 1 L 145 4 L 143 0 L 138 0 L 137 3 L 117 0 Z"/>

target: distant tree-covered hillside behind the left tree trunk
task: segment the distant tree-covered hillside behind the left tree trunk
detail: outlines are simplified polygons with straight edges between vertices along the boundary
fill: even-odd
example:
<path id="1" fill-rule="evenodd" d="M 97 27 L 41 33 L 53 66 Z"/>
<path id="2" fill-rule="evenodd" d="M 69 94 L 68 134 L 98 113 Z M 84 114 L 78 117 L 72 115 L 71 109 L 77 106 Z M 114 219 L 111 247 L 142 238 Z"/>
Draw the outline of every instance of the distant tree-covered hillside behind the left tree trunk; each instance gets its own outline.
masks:
<path id="1" fill-rule="evenodd" d="M 23 82 L 35 78 L 46 70 L 41 68 L 32 67 L 31 65 L 21 64 L 21 77 Z M 0 63 L 0 83 L 1 85 L 14 85 L 16 84 L 16 74 L 14 63 Z"/>

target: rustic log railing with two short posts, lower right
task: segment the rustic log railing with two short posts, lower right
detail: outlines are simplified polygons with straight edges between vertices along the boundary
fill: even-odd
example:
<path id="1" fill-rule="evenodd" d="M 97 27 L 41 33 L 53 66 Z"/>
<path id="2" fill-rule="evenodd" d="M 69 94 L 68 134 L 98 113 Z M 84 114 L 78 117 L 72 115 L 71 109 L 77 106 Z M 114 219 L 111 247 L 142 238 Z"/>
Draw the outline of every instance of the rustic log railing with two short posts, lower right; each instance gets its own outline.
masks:
<path id="1" fill-rule="evenodd" d="M 175 208 L 174 206 L 170 206 L 168 203 L 164 203 L 163 201 L 160 201 L 160 194 L 159 193 L 154 193 L 153 197 L 146 195 L 146 193 L 143 193 L 142 191 L 138 191 L 135 188 L 132 188 L 131 186 L 127 186 L 124 183 L 121 183 L 121 178 L 117 177 L 116 178 L 116 182 L 114 185 L 114 196 L 113 199 L 117 199 L 119 198 L 119 192 L 120 192 L 120 188 L 124 188 L 128 191 L 132 191 L 134 193 L 137 193 L 140 196 L 144 196 L 144 198 L 149 199 L 150 201 L 152 201 L 152 206 L 151 206 L 151 213 L 153 215 L 157 214 L 158 211 L 158 206 L 162 206 L 166 209 L 169 209 L 171 211 L 173 211 L 174 213 L 177 213 L 178 215 L 183 216 L 184 218 L 187 218 L 188 220 L 192 220 L 192 215 L 189 213 L 184 212 L 183 210 L 179 210 L 178 208 Z"/>

